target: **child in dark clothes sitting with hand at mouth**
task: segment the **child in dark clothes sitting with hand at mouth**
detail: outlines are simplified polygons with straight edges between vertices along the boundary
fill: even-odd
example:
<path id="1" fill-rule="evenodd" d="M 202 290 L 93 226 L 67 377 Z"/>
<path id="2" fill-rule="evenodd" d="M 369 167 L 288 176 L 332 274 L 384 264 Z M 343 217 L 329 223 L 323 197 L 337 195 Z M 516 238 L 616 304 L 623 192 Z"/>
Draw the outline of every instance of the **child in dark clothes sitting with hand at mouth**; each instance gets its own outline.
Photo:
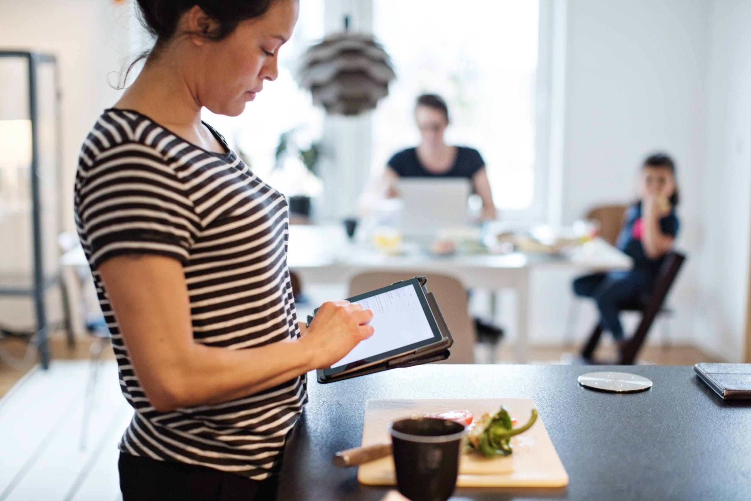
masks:
<path id="1" fill-rule="evenodd" d="M 594 273 L 574 281 L 576 295 L 596 301 L 602 327 L 613 334 L 620 349 L 626 341 L 618 312 L 649 294 L 678 233 L 675 215 L 678 190 L 672 158 L 656 153 L 644 160 L 639 195 L 641 200 L 626 210 L 616 242 L 616 246 L 633 259 L 632 270 Z"/>

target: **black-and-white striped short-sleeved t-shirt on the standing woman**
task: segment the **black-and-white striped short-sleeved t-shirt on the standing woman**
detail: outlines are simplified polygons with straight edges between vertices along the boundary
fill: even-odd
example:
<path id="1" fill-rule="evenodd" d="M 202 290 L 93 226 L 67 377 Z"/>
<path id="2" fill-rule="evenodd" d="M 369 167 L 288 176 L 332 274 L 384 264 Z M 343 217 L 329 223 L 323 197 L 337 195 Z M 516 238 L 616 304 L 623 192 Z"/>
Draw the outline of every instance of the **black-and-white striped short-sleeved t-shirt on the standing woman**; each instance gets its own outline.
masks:
<path id="1" fill-rule="evenodd" d="M 307 401 L 305 377 L 225 403 L 158 412 L 134 373 L 98 273 L 116 255 L 169 256 L 185 271 L 197 343 L 252 349 L 300 336 L 285 198 L 210 130 L 227 153 L 201 149 L 135 111 L 106 110 L 81 148 L 75 216 L 120 387 L 135 409 L 120 450 L 262 480 L 278 466 Z"/>

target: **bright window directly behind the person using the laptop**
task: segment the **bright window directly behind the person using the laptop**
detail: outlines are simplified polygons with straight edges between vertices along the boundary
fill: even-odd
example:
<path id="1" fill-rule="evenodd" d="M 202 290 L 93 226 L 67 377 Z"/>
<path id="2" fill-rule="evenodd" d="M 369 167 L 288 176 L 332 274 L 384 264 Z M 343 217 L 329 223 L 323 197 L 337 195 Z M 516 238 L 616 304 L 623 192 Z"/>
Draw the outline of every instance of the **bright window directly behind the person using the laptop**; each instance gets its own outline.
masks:
<path id="1" fill-rule="evenodd" d="M 538 10 L 532 0 L 375 0 L 373 33 L 397 80 L 373 113 L 373 173 L 394 152 L 418 143 L 415 98 L 435 92 L 449 105 L 448 143 L 481 152 L 496 206 L 540 214 Z"/>

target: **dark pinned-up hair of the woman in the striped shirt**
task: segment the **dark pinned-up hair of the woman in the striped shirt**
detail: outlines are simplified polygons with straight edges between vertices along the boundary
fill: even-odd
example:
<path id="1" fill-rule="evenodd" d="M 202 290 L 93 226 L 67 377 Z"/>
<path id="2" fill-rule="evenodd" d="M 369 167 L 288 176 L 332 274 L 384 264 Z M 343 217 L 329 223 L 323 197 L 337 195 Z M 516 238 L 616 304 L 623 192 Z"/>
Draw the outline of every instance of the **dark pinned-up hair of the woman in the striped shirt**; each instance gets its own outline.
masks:
<path id="1" fill-rule="evenodd" d="M 240 21 L 261 17 L 266 14 L 276 0 L 137 0 L 141 24 L 155 38 L 154 47 L 141 53 L 128 69 L 122 79 L 122 87 L 128 80 L 128 74 L 142 59 L 158 51 L 166 41 L 176 35 L 199 35 L 208 40 L 220 41 L 226 38 Z M 177 24 L 185 12 L 198 5 L 207 16 L 217 21 L 219 26 L 213 32 L 195 34 L 177 33 Z"/>

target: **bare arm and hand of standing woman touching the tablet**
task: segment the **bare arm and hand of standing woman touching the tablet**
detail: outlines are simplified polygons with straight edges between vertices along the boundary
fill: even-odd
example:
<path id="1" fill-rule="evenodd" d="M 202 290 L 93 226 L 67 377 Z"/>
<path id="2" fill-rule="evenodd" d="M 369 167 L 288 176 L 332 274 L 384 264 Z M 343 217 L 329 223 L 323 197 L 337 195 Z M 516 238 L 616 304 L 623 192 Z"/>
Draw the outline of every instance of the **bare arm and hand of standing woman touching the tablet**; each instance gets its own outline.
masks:
<path id="1" fill-rule="evenodd" d="M 245 397 L 330 367 L 372 335 L 372 312 L 324 303 L 299 340 L 252 349 L 193 339 L 182 264 L 160 255 L 122 255 L 99 267 L 143 390 L 161 412 Z"/>

